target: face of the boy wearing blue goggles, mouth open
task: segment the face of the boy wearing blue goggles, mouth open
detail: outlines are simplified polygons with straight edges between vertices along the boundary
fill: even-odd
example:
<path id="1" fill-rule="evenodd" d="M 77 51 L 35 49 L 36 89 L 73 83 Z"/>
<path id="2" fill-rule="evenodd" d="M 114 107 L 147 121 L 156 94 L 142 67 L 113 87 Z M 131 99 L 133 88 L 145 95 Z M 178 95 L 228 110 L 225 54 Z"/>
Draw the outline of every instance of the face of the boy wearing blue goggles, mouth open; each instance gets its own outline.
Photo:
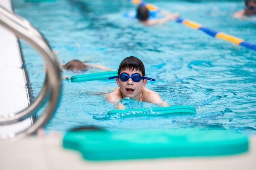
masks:
<path id="1" fill-rule="evenodd" d="M 129 69 L 122 70 L 120 73 L 127 73 L 129 76 L 133 74 L 140 74 L 141 71 L 130 71 Z M 141 75 L 142 76 L 142 75 Z M 146 85 L 147 80 L 140 80 L 140 82 L 133 82 L 131 78 L 123 82 L 121 79 L 116 78 L 116 83 L 122 92 L 123 97 L 129 97 L 130 99 L 140 100 L 141 89 Z"/>

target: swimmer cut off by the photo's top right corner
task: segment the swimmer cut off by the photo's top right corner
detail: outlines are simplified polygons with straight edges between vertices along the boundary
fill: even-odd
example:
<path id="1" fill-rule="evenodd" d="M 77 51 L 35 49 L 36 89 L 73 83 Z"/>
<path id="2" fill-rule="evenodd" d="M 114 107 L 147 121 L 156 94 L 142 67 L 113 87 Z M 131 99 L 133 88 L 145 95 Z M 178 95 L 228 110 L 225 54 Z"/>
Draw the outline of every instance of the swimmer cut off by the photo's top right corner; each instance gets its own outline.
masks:
<path id="1" fill-rule="evenodd" d="M 256 0 L 246 0 L 245 8 L 233 14 L 234 18 L 243 19 L 246 16 L 256 15 Z"/>

